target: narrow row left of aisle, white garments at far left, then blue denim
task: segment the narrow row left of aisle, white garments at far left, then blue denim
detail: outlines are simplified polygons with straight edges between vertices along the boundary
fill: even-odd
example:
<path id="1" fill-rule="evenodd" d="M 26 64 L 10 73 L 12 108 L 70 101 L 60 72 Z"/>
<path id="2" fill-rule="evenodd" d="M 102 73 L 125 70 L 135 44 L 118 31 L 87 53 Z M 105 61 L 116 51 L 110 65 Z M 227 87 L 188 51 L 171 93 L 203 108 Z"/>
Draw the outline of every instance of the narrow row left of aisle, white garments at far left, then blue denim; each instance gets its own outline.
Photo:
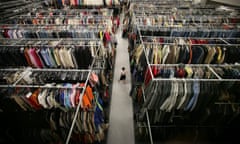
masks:
<path id="1" fill-rule="evenodd" d="M 110 28 L 110 27 L 109 27 Z M 107 26 L 78 26 L 78 25 L 65 25 L 65 26 L 3 26 L 0 27 L 2 37 L 5 38 L 95 38 L 99 32 L 107 30 Z"/>

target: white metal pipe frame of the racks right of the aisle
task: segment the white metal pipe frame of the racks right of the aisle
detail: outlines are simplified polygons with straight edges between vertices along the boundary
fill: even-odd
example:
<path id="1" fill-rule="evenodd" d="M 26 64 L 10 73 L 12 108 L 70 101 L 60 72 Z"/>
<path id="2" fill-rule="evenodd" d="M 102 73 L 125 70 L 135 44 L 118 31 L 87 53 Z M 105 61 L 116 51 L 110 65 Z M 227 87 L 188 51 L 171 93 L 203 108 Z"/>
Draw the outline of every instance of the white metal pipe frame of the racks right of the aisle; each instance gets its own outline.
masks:
<path id="1" fill-rule="evenodd" d="M 149 4 L 149 1 L 145 1 L 144 0 L 133 0 L 133 2 L 141 2 L 141 4 L 136 4 L 136 6 L 139 6 L 139 9 L 138 7 L 136 7 L 136 9 L 133 9 L 132 10 L 132 25 L 133 25 L 133 28 L 135 28 L 136 30 L 136 33 L 137 35 L 139 36 L 139 41 L 140 41 L 140 45 L 143 45 L 143 53 L 145 55 L 145 59 L 146 59 L 146 62 L 147 62 L 147 68 L 146 69 L 149 69 L 149 74 L 150 74 L 150 79 L 151 81 L 153 82 L 163 82 L 163 81 L 176 81 L 176 82 L 180 82 L 180 81 L 184 81 L 184 82 L 193 82 L 193 81 L 201 81 L 201 82 L 240 82 L 240 79 L 224 79 L 222 78 L 220 75 L 217 74 L 217 72 L 214 71 L 214 68 L 217 68 L 217 67 L 238 67 L 240 69 L 240 64 L 151 64 L 149 62 L 149 59 L 148 59 L 148 56 L 147 56 L 147 53 L 146 53 L 146 47 L 144 46 L 144 44 L 170 44 L 170 45 L 173 45 L 174 43 L 157 43 L 157 42 L 144 42 L 144 39 L 146 38 L 151 38 L 151 39 L 160 39 L 160 38 L 163 38 L 163 39 L 170 39 L 170 40 L 174 40 L 174 39 L 177 39 L 177 38 L 182 38 L 182 39 L 185 39 L 185 40 L 188 40 L 188 39 L 202 39 L 202 40 L 219 40 L 219 41 L 222 41 L 224 42 L 224 44 L 213 44 L 213 45 L 223 45 L 223 46 L 240 46 L 240 44 L 231 44 L 228 42 L 228 40 L 240 40 L 239 37 L 235 37 L 235 38 L 202 38 L 202 37 L 168 37 L 168 36 L 144 36 L 141 34 L 141 30 L 161 30 L 161 29 L 169 29 L 169 27 L 165 27 L 165 26 L 145 26 L 145 25 L 139 25 L 137 19 L 138 19 L 138 16 L 141 17 L 141 16 L 144 16 L 144 10 L 148 11 L 148 5 Z M 142 3 L 144 2 L 144 3 Z M 135 3 L 134 3 L 135 4 Z M 141 6 L 140 6 L 141 5 Z M 146 6 L 146 9 L 144 8 L 144 5 Z M 156 3 L 155 6 L 157 7 L 158 4 Z M 161 6 L 160 6 L 161 7 Z M 158 7 L 159 8 L 159 7 Z M 210 8 L 212 9 L 212 8 Z M 159 9 L 158 9 L 159 10 Z M 213 11 L 215 9 L 212 9 Z M 141 14 L 137 14 L 137 12 L 140 12 Z M 151 11 L 149 12 L 151 13 Z M 225 17 L 225 16 L 224 16 Z M 197 25 L 196 25 L 197 26 Z M 179 30 L 189 30 L 191 29 L 191 27 L 193 27 L 194 29 L 196 30 L 204 30 L 206 28 L 210 28 L 210 27 L 194 27 L 194 26 L 181 26 L 181 27 L 172 27 L 172 29 L 179 29 Z M 170 28 L 171 29 L 171 28 Z M 218 28 L 218 29 L 211 29 L 213 31 L 226 31 L 226 30 L 223 30 L 221 28 Z M 235 29 L 236 31 L 240 32 L 239 31 L 239 28 Z M 189 45 L 189 44 L 187 44 Z M 195 45 L 195 44 L 193 44 Z M 198 44 L 196 44 L 198 45 Z M 209 44 L 200 44 L 200 45 L 209 45 Z M 211 44 L 210 44 L 211 45 Z M 194 78 L 155 78 L 154 77 L 154 74 L 153 74 L 153 71 L 152 71 L 152 67 L 166 67 L 166 68 L 173 68 L 173 67 L 178 67 L 178 66 L 190 66 L 190 67 L 204 67 L 206 69 L 208 69 L 212 74 L 213 76 L 215 76 L 214 79 L 203 79 L 203 78 L 200 78 L 200 79 L 194 79 Z M 144 101 L 146 100 L 145 98 L 145 94 L 144 94 L 144 86 L 141 86 L 141 89 L 142 89 L 142 92 L 143 92 L 143 99 Z M 218 103 L 216 102 L 215 104 L 224 104 L 224 105 L 228 105 L 229 103 Z M 240 104 L 240 103 L 235 103 L 235 104 Z M 147 118 L 147 128 L 148 128 L 148 132 L 149 132 L 149 140 L 150 140 L 150 143 L 153 144 L 153 138 L 152 138 L 152 133 L 151 133 L 151 127 L 155 127 L 155 126 L 151 126 L 150 124 L 150 120 L 149 120 L 149 114 L 148 114 L 148 110 L 147 109 L 143 109 L 143 112 L 146 114 L 146 118 Z M 161 127 L 161 126 L 160 126 Z M 165 127 L 165 126 L 163 126 Z M 168 126 L 167 126 L 168 127 Z M 175 126 L 172 126 L 172 127 L 175 127 Z M 197 127 L 197 126 L 196 126 Z"/>

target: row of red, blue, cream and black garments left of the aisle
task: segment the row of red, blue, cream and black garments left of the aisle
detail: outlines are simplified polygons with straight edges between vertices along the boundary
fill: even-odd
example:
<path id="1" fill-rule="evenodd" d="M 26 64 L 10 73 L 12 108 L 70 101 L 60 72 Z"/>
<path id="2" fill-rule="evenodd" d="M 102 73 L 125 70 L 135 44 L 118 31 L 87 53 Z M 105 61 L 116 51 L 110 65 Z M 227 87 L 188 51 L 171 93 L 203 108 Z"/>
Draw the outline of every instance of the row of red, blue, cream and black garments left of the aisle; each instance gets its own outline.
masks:
<path id="1" fill-rule="evenodd" d="M 95 58 L 99 58 L 105 55 L 104 46 L 101 41 L 91 41 L 87 43 L 83 41 L 80 43 L 64 43 L 65 41 L 57 41 L 57 43 L 25 43 L 25 44 L 13 44 L 13 45 L 0 45 L 3 50 L 9 53 L 1 57 L 1 63 L 5 67 L 15 67 L 17 64 L 20 66 L 31 66 L 36 68 L 66 68 L 66 69 L 76 69 L 76 68 L 88 68 Z M 72 42 L 72 41 L 69 41 Z M 80 46 L 80 47 L 78 47 Z M 13 50 L 6 49 L 12 47 Z M 70 48 L 70 49 L 69 49 Z M 36 56 L 33 58 L 33 53 Z M 13 56 L 15 52 L 17 58 L 22 58 L 20 61 L 15 63 L 6 62 L 3 63 L 4 59 Z M 23 53 L 25 55 L 23 55 Z M 1 55 L 3 55 L 1 51 Z M 80 57 L 77 57 L 80 56 Z M 28 59 L 32 57 L 32 59 Z M 86 59 L 88 58 L 88 59 Z M 104 57 L 102 57 L 104 59 Z"/>

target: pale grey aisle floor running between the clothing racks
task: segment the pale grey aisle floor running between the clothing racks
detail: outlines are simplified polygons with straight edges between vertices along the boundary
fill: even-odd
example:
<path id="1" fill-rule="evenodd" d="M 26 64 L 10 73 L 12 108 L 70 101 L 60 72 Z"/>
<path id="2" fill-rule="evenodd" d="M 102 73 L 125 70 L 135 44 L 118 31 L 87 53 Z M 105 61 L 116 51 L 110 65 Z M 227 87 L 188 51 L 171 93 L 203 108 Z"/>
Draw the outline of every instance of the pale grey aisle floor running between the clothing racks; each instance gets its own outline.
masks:
<path id="1" fill-rule="evenodd" d="M 113 89 L 110 106 L 110 122 L 107 144 L 134 144 L 133 108 L 129 96 L 131 87 L 128 41 L 118 30 Z M 127 70 L 126 83 L 119 82 L 121 67 Z"/>

